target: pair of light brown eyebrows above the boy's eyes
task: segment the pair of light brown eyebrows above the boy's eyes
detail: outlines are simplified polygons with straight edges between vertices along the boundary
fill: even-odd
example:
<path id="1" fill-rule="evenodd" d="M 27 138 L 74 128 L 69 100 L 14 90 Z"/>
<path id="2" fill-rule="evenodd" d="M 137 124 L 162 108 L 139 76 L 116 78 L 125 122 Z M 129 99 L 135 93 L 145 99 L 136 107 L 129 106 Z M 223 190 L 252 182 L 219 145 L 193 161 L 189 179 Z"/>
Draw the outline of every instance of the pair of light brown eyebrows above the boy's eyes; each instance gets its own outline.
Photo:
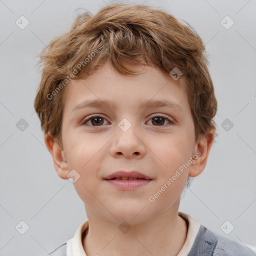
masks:
<path id="1" fill-rule="evenodd" d="M 110 108 L 112 109 L 116 109 L 117 108 L 117 103 L 115 101 L 112 100 L 100 100 L 100 99 L 88 99 L 88 100 L 84 100 L 81 103 L 79 103 L 78 105 L 76 105 L 73 110 L 71 111 L 71 113 L 77 109 L 80 108 L 86 108 L 86 107 L 104 107 L 104 106 L 110 106 Z M 183 113 L 185 113 L 184 108 L 175 102 L 171 102 L 168 100 L 151 100 L 151 99 L 146 99 L 141 101 L 138 104 L 138 108 L 142 108 L 142 107 L 147 107 L 147 108 L 152 108 L 152 107 L 159 107 L 159 106 L 167 106 L 167 107 L 171 107 L 171 108 L 175 108 Z"/>

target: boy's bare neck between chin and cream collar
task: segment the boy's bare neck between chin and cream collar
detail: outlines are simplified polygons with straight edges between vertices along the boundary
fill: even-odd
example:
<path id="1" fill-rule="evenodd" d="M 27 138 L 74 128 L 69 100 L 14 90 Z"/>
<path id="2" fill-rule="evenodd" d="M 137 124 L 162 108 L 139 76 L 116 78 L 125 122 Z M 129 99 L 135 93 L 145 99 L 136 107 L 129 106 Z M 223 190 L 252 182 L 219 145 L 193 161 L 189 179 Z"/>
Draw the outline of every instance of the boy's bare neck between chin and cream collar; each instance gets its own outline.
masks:
<path id="1" fill-rule="evenodd" d="M 89 227 L 82 240 L 83 249 L 88 256 L 176 256 L 185 242 L 187 226 L 177 210 L 175 214 L 171 213 L 161 212 L 131 225 L 127 232 L 122 233 L 119 223 L 95 215 L 95 212 L 89 217 L 87 212 Z"/>

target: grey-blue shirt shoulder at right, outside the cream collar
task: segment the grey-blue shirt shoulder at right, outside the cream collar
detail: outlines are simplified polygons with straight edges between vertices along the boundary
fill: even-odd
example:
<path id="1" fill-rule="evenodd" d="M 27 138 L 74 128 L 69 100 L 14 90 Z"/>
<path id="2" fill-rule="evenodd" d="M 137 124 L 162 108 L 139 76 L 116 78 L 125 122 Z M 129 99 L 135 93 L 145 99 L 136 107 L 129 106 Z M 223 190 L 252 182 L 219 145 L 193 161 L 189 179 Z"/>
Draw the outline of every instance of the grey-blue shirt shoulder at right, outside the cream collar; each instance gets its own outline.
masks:
<path id="1" fill-rule="evenodd" d="M 200 225 L 188 256 L 251 256 L 244 244 L 220 236 Z"/>

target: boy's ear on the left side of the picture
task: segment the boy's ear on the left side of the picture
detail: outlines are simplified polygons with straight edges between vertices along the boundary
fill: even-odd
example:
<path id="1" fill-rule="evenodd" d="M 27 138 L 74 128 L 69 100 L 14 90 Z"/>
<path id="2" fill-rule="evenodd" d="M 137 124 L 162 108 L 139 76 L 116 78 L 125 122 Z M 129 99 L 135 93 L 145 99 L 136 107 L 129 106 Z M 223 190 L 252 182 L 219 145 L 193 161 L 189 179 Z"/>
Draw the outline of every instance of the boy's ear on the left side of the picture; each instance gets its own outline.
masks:
<path id="1" fill-rule="evenodd" d="M 51 154 L 54 168 L 59 177 L 63 179 L 69 178 L 67 174 L 69 173 L 66 158 L 64 151 L 59 144 L 54 141 L 54 139 L 50 136 L 50 134 L 44 135 L 44 142 Z"/>

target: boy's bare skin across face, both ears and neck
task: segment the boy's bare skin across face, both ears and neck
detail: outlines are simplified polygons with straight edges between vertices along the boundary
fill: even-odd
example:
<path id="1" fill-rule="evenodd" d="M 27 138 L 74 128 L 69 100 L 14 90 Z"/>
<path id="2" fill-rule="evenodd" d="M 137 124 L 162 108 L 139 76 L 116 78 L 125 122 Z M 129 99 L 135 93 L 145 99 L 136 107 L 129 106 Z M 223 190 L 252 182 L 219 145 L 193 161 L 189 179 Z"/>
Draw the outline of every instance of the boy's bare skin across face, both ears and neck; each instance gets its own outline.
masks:
<path id="1" fill-rule="evenodd" d="M 128 76 L 110 63 L 82 80 L 65 87 L 62 145 L 50 134 L 45 144 L 59 177 L 67 179 L 75 169 L 80 177 L 73 183 L 85 205 L 89 229 L 82 240 L 86 255 L 177 255 L 186 239 L 185 221 L 178 216 L 180 194 L 187 176 L 199 175 L 213 142 L 194 137 L 188 97 L 179 84 L 151 66 L 136 66 L 141 74 Z M 85 99 L 109 99 L 117 108 L 72 109 Z M 144 99 L 167 99 L 182 105 L 184 112 L 166 106 L 138 108 Z M 83 123 L 85 117 L 98 114 Z M 160 115 L 160 125 L 154 118 Z M 126 118 L 131 127 L 123 131 L 118 123 Z M 94 125 L 94 126 L 93 126 Z M 96 125 L 96 126 L 95 126 Z M 157 198 L 149 201 L 169 177 L 196 151 L 200 156 Z M 102 179 L 117 170 L 137 170 L 153 180 L 133 190 L 122 190 Z M 123 234 L 118 225 L 126 221 L 131 229 Z M 113 238 L 114 237 L 114 238 Z M 107 245 L 107 246 L 106 246 Z M 102 249 L 103 248 L 103 249 Z"/>

